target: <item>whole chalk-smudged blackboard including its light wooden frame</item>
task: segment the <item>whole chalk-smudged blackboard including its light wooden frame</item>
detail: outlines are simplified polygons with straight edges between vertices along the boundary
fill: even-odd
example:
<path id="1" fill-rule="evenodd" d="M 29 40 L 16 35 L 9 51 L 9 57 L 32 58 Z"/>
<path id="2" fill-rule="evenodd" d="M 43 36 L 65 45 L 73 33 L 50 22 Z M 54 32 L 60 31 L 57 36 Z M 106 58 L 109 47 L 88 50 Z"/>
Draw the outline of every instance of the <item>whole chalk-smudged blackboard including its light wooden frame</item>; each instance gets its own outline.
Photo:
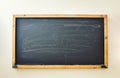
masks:
<path id="1" fill-rule="evenodd" d="M 107 68 L 106 15 L 15 15 L 13 68 Z"/>

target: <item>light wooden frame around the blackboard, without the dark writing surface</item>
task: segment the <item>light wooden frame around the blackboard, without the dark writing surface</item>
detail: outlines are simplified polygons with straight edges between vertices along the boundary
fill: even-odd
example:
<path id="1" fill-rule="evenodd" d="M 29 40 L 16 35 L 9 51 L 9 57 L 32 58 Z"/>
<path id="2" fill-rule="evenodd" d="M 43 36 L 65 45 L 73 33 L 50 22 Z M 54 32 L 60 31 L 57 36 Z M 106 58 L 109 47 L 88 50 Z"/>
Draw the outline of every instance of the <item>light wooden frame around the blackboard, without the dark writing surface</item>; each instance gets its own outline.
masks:
<path id="1" fill-rule="evenodd" d="M 16 65 L 16 48 L 15 48 L 15 38 L 16 38 L 16 18 L 58 18 L 58 17 L 76 17 L 76 18 L 104 18 L 104 65 Z M 12 40 L 12 66 L 13 68 L 21 68 L 21 69 L 25 69 L 25 68 L 52 68 L 52 69 L 66 69 L 66 68 L 89 68 L 89 69 L 96 69 L 96 68 L 107 68 L 108 67 L 108 19 L 107 19 L 107 15 L 80 15 L 80 14 L 73 14 L 73 15 L 67 15 L 67 14 L 49 14 L 49 15 L 14 15 L 13 16 L 13 40 Z"/>

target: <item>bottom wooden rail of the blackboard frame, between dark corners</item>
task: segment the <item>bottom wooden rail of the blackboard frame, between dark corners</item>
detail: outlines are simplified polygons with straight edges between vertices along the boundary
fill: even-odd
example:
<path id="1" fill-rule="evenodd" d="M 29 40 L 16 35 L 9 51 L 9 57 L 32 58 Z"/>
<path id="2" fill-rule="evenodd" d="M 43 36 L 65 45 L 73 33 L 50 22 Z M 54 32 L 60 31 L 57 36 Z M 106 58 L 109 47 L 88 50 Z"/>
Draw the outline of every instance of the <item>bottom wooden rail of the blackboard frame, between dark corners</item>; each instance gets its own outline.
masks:
<path id="1" fill-rule="evenodd" d="M 17 65 L 18 69 L 101 69 L 101 65 Z"/>

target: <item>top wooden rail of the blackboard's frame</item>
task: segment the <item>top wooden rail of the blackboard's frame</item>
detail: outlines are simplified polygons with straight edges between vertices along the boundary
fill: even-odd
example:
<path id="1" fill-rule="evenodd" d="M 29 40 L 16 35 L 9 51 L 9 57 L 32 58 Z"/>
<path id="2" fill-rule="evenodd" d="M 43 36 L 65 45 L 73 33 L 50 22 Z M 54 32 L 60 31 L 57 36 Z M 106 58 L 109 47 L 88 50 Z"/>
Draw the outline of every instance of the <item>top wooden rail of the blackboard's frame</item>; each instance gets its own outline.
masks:
<path id="1" fill-rule="evenodd" d="M 75 17 L 75 18 L 104 18 L 104 15 L 100 14 L 24 14 L 24 15 L 14 15 L 15 17 L 19 17 L 19 18 L 64 18 L 64 17 Z"/>

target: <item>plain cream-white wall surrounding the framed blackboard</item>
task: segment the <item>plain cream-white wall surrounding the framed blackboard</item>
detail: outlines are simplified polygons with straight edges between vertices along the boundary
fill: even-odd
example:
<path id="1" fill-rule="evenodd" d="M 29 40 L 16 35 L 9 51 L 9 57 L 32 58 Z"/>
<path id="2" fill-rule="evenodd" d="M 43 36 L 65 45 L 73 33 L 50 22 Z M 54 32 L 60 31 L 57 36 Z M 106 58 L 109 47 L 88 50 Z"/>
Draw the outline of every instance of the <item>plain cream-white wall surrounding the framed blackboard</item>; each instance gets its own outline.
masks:
<path id="1" fill-rule="evenodd" d="M 108 69 L 12 69 L 13 14 L 108 14 Z M 0 78 L 120 78 L 120 0 L 0 0 Z"/>

